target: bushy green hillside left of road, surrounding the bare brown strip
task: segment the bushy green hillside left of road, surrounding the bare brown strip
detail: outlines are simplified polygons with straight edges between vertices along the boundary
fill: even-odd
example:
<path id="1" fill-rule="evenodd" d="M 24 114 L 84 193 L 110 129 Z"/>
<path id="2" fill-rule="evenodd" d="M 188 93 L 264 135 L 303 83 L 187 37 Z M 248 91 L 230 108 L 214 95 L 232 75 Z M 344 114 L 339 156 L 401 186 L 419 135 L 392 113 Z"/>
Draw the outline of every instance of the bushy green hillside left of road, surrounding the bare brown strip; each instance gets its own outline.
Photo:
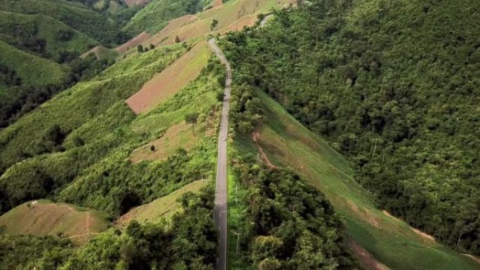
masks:
<path id="1" fill-rule="evenodd" d="M 185 50 L 174 45 L 133 55 L 3 130 L 1 161 L 4 168 L 13 166 L 0 178 L 0 192 L 5 194 L 2 211 L 47 197 L 116 217 L 189 182 L 211 179 L 216 151 L 212 137 L 199 140 L 189 151 L 175 151 L 164 161 L 128 159 L 133 149 L 155 140 L 187 114 L 195 112 L 204 122 L 217 110 L 219 86 L 207 70 L 138 119 L 124 103 Z M 104 98 L 99 100 L 98 95 Z"/>

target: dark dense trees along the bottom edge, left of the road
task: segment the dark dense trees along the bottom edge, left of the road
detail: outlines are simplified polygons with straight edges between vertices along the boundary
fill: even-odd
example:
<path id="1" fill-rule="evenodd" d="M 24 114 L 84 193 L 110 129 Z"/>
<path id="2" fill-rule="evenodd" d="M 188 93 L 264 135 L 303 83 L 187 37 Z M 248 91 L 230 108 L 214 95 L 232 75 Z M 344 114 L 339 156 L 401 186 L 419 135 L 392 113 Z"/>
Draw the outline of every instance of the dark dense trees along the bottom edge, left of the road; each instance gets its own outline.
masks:
<path id="1" fill-rule="evenodd" d="M 0 269 L 212 270 L 217 233 L 213 187 L 181 198 L 183 212 L 170 222 L 109 229 L 85 245 L 62 236 L 0 236 Z"/>

